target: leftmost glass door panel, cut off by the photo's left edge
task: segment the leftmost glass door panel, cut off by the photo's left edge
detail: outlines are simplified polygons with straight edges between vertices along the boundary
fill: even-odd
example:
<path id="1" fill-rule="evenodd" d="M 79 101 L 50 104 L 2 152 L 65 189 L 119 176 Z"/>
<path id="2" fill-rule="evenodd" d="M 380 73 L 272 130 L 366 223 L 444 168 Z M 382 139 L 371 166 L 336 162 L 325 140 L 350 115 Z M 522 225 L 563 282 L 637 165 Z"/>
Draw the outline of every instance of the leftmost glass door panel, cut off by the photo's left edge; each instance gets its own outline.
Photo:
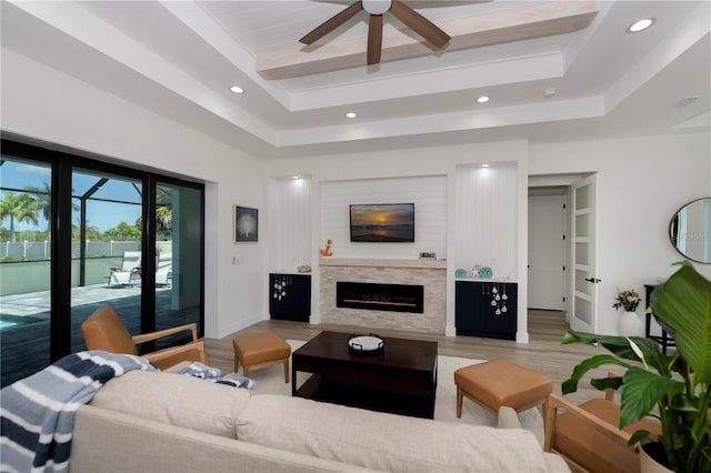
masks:
<path id="1" fill-rule="evenodd" d="M 50 362 L 51 165 L 0 161 L 1 386 Z"/>

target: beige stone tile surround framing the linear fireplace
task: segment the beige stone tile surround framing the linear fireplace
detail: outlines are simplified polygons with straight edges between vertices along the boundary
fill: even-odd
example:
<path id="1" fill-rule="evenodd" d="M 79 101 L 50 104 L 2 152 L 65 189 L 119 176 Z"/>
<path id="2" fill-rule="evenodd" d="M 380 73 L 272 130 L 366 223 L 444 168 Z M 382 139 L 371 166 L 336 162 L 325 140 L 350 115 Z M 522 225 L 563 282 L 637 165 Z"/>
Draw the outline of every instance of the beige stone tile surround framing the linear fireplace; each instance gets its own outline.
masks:
<path id="1" fill-rule="evenodd" d="M 322 258 L 320 270 L 322 323 L 444 334 L 447 261 Z M 424 313 L 337 308 L 336 283 L 339 281 L 422 285 Z"/>

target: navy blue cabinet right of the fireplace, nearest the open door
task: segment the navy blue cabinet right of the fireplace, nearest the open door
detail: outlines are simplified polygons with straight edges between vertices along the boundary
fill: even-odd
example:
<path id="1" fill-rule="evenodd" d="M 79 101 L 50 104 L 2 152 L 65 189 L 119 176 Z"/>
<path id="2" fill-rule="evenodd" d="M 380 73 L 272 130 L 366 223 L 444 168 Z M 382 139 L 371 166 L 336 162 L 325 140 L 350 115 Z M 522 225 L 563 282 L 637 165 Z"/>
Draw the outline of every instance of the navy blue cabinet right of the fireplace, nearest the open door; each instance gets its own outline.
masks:
<path id="1" fill-rule="evenodd" d="M 511 282 L 457 281 L 457 334 L 515 340 L 517 290 Z"/>

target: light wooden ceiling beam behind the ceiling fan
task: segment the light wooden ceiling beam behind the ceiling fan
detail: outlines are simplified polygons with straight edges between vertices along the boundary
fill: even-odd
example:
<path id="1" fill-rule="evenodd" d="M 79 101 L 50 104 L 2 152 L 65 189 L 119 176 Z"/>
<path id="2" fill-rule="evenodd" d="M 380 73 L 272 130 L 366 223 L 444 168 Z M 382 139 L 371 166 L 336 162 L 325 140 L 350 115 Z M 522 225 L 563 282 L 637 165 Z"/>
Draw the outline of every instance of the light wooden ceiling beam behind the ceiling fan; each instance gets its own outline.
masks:
<path id="1" fill-rule="evenodd" d="M 597 0 L 540 1 L 439 22 L 438 27 L 452 37 L 441 50 L 414 32 L 392 32 L 382 39 L 381 62 L 569 33 L 590 26 L 598 12 Z M 308 47 L 297 38 L 293 42 L 290 50 L 258 57 L 257 72 L 264 79 L 279 80 L 365 66 L 365 36 Z"/>

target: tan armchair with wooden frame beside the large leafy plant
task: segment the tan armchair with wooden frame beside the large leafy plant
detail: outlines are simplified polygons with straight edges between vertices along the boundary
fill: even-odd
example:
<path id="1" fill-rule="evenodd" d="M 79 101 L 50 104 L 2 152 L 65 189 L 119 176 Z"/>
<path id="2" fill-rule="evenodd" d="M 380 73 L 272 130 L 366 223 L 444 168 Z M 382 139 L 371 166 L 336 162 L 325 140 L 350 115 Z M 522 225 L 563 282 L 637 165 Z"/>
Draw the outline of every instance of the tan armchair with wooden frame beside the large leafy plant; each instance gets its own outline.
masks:
<path id="1" fill-rule="evenodd" d="M 639 472 L 638 447 L 628 446 L 628 441 L 638 430 L 661 432 L 661 426 L 643 419 L 620 430 L 620 406 L 613 395 L 614 390 L 608 389 L 604 397 L 575 405 L 555 393 L 549 394 L 543 412 L 543 450 L 561 454 L 573 472 Z"/>

